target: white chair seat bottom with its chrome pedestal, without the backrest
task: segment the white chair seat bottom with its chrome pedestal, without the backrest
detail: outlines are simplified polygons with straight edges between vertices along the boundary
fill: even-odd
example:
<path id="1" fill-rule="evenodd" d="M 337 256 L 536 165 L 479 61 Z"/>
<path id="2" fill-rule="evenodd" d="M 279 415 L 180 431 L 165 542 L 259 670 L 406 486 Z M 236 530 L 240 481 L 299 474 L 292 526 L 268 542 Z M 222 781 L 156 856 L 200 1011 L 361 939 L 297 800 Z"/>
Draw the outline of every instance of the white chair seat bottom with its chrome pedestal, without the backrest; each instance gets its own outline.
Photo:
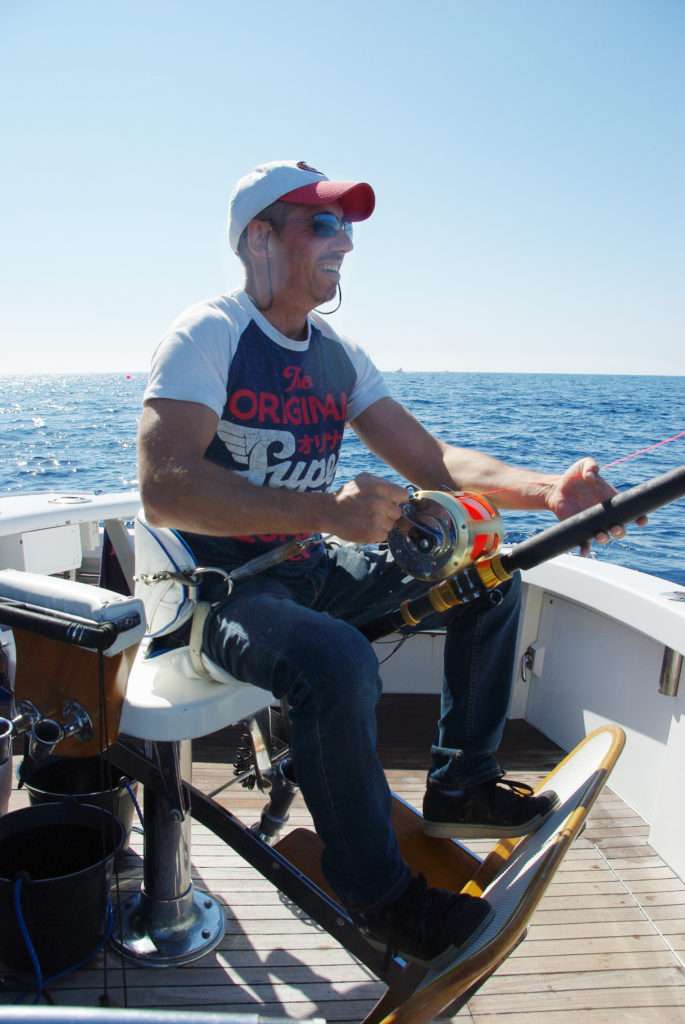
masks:
<path id="1" fill-rule="evenodd" d="M 208 662 L 198 675 L 187 647 L 146 657 L 142 643 L 128 678 L 120 731 L 144 743 L 155 766 L 144 784 L 144 865 L 139 893 L 125 900 L 113 943 L 151 967 L 189 964 L 224 934 L 222 905 L 190 882 L 190 811 L 182 779 L 192 771 L 190 737 L 254 715 L 268 697 Z M 183 737 L 183 738 L 179 738 Z"/>

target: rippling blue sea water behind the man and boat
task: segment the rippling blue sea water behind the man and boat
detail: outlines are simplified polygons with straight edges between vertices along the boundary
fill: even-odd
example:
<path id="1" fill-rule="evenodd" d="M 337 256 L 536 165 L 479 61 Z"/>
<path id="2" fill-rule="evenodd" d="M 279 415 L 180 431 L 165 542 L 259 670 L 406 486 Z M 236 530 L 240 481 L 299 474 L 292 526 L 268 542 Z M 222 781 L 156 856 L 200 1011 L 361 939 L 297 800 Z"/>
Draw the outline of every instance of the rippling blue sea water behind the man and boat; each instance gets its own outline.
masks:
<path id="1" fill-rule="evenodd" d="M 685 378 L 552 374 L 389 373 L 394 396 L 442 440 L 558 471 L 583 455 L 613 462 L 685 429 Z M 142 374 L 0 377 L 0 496 L 108 492 L 136 485 Z M 605 470 L 617 488 L 685 463 L 685 438 Z M 399 478 L 349 431 L 338 482 L 356 473 Z M 404 482 L 404 481 L 399 481 Z M 507 541 L 551 524 L 505 513 Z M 596 557 L 685 585 L 685 500 Z"/>

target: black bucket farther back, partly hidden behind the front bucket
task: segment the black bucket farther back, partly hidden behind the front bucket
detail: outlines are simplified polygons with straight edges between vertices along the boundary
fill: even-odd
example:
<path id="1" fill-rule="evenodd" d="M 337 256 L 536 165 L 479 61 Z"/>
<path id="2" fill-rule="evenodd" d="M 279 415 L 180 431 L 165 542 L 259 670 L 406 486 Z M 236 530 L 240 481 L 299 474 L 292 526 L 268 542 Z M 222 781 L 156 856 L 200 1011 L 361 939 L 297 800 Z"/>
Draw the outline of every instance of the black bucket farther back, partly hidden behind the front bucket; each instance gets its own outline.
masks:
<path id="1" fill-rule="evenodd" d="M 49 758 L 45 762 L 29 762 L 24 780 L 32 804 L 51 804 L 73 800 L 90 804 L 115 814 L 124 826 L 124 845 L 128 843 L 133 824 L 133 793 L 131 782 L 118 768 L 103 763 L 101 758 Z"/>

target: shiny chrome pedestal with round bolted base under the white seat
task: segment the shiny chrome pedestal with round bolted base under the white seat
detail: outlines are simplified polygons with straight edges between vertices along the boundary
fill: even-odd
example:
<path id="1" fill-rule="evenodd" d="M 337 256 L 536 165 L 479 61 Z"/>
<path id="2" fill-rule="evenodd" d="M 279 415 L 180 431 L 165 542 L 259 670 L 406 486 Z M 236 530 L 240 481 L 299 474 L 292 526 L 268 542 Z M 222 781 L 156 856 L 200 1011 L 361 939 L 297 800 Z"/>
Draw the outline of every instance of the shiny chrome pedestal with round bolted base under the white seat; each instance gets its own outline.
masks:
<path id="1" fill-rule="evenodd" d="M 166 788 L 145 786 L 142 887 L 123 901 L 112 941 L 124 956 L 170 967 L 213 949 L 225 923 L 218 900 L 190 881 L 190 813 L 181 779 L 190 780 L 191 742 L 155 746 Z"/>

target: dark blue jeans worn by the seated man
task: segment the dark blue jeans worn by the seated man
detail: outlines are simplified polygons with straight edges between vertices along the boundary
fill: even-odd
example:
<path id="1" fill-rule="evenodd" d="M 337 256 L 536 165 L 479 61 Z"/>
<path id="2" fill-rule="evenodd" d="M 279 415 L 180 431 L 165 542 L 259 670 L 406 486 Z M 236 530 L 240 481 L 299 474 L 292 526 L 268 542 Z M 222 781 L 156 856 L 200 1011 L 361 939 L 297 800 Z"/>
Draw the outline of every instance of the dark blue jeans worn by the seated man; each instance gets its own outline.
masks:
<path id="1" fill-rule="evenodd" d="M 425 583 L 404 579 L 385 551 L 332 548 L 300 577 L 279 566 L 238 584 L 205 627 L 204 649 L 214 662 L 279 699 L 287 696 L 295 773 L 325 844 L 324 871 L 351 909 L 389 902 L 410 877 L 376 754 L 378 660 L 353 625 L 425 592 Z M 515 577 L 421 625 L 446 627 L 430 769 L 445 787 L 502 774 L 495 752 L 509 703 L 519 594 Z"/>

